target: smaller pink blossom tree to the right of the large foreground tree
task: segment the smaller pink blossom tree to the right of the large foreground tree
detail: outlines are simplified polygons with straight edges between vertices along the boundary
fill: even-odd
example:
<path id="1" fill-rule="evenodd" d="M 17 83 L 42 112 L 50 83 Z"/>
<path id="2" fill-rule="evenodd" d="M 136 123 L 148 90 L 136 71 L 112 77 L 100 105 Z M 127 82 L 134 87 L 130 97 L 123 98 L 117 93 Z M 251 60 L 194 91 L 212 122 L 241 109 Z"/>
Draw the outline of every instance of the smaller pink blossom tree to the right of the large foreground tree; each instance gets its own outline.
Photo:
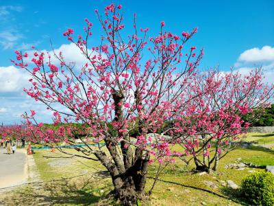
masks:
<path id="1" fill-rule="evenodd" d="M 199 98 L 192 102 L 184 117 L 177 117 L 182 121 L 175 126 L 184 130 L 175 135 L 184 137 L 180 143 L 197 170 L 216 171 L 219 160 L 240 144 L 240 135 L 247 133 L 249 122 L 258 115 L 249 117 L 249 122 L 242 117 L 253 109 L 270 106 L 273 87 L 262 83 L 262 69 L 246 76 L 233 71 L 209 71 L 195 80 L 197 87 L 191 88 L 190 93 Z"/>

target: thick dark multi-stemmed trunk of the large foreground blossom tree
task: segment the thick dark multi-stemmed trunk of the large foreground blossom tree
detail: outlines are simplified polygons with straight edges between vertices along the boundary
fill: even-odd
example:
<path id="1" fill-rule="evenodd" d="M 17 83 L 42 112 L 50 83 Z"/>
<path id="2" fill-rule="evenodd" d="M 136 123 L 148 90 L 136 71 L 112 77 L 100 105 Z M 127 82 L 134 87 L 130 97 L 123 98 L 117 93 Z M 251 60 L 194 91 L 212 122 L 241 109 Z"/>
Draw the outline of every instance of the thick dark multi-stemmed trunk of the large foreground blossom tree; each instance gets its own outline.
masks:
<path id="1" fill-rule="evenodd" d="M 123 93 L 113 92 L 112 98 L 115 105 L 114 121 L 123 122 Z M 139 125 L 141 134 L 143 133 L 142 124 Z M 100 160 L 110 172 L 116 198 L 119 198 L 123 205 L 136 205 L 136 201 L 145 196 L 144 190 L 149 165 L 149 154 L 141 148 L 136 148 L 134 154 L 130 145 L 127 144 L 127 141 L 130 141 L 129 135 L 118 131 L 118 136 L 125 139 L 125 141 L 121 141 L 123 157 L 121 158 L 119 155 L 116 145 L 112 146 L 112 139 L 105 138 L 105 144 L 113 161 L 106 157 L 105 154 L 105 157 L 100 157 Z"/>

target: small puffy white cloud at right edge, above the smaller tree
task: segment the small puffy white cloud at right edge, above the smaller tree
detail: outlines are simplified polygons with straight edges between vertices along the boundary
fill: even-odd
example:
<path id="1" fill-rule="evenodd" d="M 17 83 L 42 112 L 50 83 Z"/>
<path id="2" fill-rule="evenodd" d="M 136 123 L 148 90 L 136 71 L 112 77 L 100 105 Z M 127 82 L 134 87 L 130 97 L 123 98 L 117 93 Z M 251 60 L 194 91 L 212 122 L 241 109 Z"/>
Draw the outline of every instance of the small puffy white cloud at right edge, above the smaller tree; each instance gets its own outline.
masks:
<path id="1" fill-rule="evenodd" d="M 238 62 L 256 63 L 274 61 L 274 47 L 264 46 L 262 49 L 255 47 L 242 52 L 238 58 Z"/>

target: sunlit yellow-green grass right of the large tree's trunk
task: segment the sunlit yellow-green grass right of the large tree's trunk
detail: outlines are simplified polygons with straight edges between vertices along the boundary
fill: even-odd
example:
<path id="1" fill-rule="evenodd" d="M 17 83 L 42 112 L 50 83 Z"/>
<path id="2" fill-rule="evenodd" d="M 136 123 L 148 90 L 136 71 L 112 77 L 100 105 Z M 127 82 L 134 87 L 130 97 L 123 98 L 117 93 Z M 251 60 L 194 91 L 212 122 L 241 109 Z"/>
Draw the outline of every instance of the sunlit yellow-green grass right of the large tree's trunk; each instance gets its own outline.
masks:
<path id="1" fill-rule="evenodd" d="M 152 203 L 159 203 L 159 205 L 160 203 L 162 203 L 162 205 L 201 205 L 201 202 L 204 201 L 207 205 L 227 205 L 229 203 L 231 205 L 240 205 L 225 198 L 220 198 L 214 194 L 209 194 L 208 192 L 199 190 L 206 189 L 215 192 L 216 194 L 229 196 L 230 194 L 224 194 L 224 191 L 231 192 L 231 190 L 225 190 L 226 188 L 222 187 L 220 182 L 232 180 L 234 183 L 240 185 L 242 179 L 251 174 L 248 172 L 248 170 L 252 169 L 249 168 L 246 168 L 243 171 L 225 169 L 225 165 L 227 163 L 234 163 L 239 157 L 241 157 L 243 161 L 249 161 L 253 164 L 274 165 L 274 152 L 258 147 L 253 147 L 250 149 L 238 148 L 230 152 L 220 161 L 219 172 L 205 174 L 203 176 L 199 176 L 199 174 L 191 174 L 190 171 L 192 168 L 194 168 L 193 163 L 190 163 L 190 165 L 186 166 L 182 162 L 177 162 L 173 165 L 169 165 L 160 179 L 180 183 L 184 185 L 184 187 L 171 183 L 158 182 L 155 190 L 153 191 Z M 155 168 L 155 165 L 152 166 L 150 171 L 155 171 Z M 262 170 L 255 169 L 255 171 Z M 213 190 L 212 188 L 205 185 L 203 181 L 212 181 L 216 185 L 219 185 L 219 188 Z M 149 183 L 147 185 L 148 187 Z M 192 189 L 189 186 L 197 187 L 197 189 Z M 238 200 L 235 196 L 232 196 L 232 198 L 234 198 L 234 200 Z"/>

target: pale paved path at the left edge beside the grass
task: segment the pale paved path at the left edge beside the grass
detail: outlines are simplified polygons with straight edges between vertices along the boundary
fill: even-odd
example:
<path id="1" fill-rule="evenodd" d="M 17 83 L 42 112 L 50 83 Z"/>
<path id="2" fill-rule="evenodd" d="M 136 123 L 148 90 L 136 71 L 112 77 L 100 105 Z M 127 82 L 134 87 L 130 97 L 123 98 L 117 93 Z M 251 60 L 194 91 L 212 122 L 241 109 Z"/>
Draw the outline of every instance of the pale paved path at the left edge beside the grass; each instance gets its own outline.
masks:
<path id="1" fill-rule="evenodd" d="M 0 148 L 0 189 L 27 182 L 27 155 L 22 149 L 12 155 Z"/>

